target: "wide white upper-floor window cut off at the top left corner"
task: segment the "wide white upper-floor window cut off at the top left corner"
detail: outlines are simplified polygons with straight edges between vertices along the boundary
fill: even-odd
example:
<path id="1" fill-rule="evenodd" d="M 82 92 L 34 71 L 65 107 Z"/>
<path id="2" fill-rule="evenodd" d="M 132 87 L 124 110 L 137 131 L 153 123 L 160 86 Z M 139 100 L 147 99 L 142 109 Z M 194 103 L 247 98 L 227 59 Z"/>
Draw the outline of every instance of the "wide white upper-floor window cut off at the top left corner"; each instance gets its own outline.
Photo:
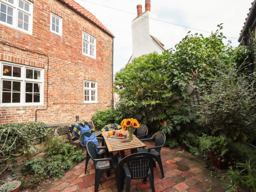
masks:
<path id="1" fill-rule="evenodd" d="M 27 0 L 0 0 L 0 23 L 32 34 L 33 3 Z"/>

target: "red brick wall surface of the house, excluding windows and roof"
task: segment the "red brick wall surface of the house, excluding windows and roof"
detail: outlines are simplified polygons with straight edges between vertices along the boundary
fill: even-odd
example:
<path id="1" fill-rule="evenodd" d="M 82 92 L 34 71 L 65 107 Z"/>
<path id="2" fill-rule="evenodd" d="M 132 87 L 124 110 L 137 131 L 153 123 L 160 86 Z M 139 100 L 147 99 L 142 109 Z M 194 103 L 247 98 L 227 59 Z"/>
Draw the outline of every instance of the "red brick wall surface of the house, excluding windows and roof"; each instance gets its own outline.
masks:
<path id="1" fill-rule="evenodd" d="M 49 108 L 38 112 L 37 121 L 60 123 L 89 120 L 96 110 L 112 104 L 112 37 L 57 0 L 34 1 L 33 34 L 0 24 L 0 41 L 49 56 Z M 50 32 L 50 12 L 63 18 L 62 36 Z M 82 54 L 82 31 L 96 37 L 97 59 Z M 0 123 L 35 120 L 35 110 L 46 107 L 47 58 L 0 44 L 0 60 L 41 67 L 44 76 L 44 105 L 0 107 Z M 83 103 L 83 80 L 96 80 L 98 103 Z"/>

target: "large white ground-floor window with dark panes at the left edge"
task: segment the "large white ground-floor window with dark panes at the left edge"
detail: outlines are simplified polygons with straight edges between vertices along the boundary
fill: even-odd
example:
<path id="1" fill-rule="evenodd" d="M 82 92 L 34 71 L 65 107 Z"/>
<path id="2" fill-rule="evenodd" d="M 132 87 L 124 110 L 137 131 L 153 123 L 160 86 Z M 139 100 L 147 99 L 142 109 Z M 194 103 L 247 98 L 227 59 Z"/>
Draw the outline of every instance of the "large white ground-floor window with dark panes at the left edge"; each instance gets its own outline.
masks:
<path id="1" fill-rule="evenodd" d="M 0 106 L 43 105 L 44 69 L 0 61 Z"/>

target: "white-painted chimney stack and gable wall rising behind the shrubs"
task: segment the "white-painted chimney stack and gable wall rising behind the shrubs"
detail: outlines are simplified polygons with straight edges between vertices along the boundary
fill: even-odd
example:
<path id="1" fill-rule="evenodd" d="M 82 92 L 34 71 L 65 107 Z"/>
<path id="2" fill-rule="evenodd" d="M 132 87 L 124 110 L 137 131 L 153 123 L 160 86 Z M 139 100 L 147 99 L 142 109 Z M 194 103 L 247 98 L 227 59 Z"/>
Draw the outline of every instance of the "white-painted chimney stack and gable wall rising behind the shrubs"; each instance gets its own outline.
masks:
<path id="1" fill-rule="evenodd" d="M 163 49 L 150 35 L 150 30 L 157 27 L 154 20 L 149 18 L 156 18 L 155 14 L 150 11 L 145 11 L 132 21 L 132 48 L 133 54 L 129 61 L 142 54 L 152 53 L 154 51 L 162 53 Z"/>

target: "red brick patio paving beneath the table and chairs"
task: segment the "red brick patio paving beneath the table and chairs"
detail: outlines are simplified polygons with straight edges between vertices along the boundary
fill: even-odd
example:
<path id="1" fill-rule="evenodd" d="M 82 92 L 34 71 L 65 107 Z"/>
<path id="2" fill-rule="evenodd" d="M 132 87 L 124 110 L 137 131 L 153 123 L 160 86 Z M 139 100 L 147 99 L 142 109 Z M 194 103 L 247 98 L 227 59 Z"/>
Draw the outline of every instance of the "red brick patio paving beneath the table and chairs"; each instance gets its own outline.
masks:
<path id="1" fill-rule="evenodd" d="M 145 142 L 147 146 L 153 143 Z M 125 151 L 129 154 L 129 151 Z M 210 170 L 205 168 L 202 158 L 195 157 L 184 151 L 163 147 L 161 150 L 165 178 L 161 177 L 159 167 L 154 168 L 156 192 L 224 192 L 222 181 L 209 176 Z M 93 161 L 89 161 L 87 174 L 84 174 L 85 161 L 67 172 L 63 178 L 52 182 L 41 192 L 94 192 L 95 170 Z M 219 172 L 220 173 L 220 172 Z M 124 190 L 125 191 L 125 190 Z M 143 180 L 131 181 L 131 192 L 150 192 L 150 184 Z M 113 170 L 109 177 L 101 178 L 99 192 L 117 192 Z"/>

